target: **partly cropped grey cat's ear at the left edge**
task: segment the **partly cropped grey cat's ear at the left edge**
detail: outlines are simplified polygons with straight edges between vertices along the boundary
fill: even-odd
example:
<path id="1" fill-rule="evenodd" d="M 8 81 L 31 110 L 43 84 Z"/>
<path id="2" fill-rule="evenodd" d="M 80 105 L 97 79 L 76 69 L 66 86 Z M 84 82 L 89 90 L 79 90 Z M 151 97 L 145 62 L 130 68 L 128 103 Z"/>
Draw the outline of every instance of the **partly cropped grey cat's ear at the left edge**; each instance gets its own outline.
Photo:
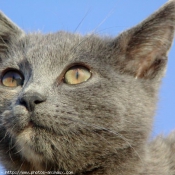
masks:
<path id="1" fill-rule="evenodd" d="M 0 12 L 0 58 L 8 52 L 9 44 L 19 39 L 24 32 Z"/>

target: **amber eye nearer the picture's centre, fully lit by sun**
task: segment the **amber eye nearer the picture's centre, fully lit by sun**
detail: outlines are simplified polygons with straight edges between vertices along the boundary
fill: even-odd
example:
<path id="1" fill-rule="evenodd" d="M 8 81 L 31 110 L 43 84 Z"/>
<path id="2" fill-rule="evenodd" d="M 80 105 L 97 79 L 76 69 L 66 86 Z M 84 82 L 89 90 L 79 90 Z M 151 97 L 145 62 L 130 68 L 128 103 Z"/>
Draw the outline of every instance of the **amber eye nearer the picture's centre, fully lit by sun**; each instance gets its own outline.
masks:
<path id="1" fill-rule="evenodd" d="M 84 66 L 73 66 L 66 72 L 64 82 L 67 84 L 79 84 L 87 81 L 91 72 Z"/>

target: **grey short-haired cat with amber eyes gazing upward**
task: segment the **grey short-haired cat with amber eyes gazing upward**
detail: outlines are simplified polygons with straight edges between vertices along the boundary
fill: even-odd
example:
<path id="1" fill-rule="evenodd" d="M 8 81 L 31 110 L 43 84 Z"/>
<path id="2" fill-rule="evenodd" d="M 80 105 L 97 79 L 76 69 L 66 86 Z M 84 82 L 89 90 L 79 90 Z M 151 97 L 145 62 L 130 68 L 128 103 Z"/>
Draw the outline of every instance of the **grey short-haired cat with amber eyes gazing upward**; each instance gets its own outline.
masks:
<path id="1" fill-rule="evenodd" d="M 0 13 L 6 174 L 175 175 L 175 133 L 149 141 L 175 0 L 119 36 L 29 33 Z"/>

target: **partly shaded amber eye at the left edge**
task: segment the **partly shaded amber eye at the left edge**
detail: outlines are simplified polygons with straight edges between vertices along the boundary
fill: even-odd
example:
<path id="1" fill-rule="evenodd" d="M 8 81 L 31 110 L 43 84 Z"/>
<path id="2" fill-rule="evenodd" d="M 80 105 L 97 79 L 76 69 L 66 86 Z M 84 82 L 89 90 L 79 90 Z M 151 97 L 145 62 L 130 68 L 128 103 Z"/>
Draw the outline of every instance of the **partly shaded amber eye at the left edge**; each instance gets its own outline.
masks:
<path id="1" fill-rule="evenodd" d="M 9 70 L 3 75 L 1 82 L 7 87 L 17 87 L 23 85 L 24 78 L 18 70 Z"/>

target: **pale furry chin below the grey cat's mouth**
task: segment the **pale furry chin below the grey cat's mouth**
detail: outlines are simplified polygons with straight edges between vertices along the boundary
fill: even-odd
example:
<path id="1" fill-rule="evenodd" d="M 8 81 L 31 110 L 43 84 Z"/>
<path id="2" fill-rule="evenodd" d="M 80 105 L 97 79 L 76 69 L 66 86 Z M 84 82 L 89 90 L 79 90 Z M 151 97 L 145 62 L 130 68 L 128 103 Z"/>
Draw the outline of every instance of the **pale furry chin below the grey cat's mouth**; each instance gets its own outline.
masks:
<path id="1" fill-rule="evenodd" d="M 37 127 L 33 122 L 28 122 L 28 124 L 23 128 L 20 133 L 16 133 L 16 149 L 17 153 L 21 155 L 22 158 L 32 163 L 32 166 L 36 170 L 44 170 L 43 162 L 46 159 L 47 150 L 45 149 L 43 143 L 43 138 L 40 137 L 40 133 L 43 133 L 47 137 L 47 131 L 43 128 Z M 41 151 L 41 147 L 44 147 L 44 151 Z"/>

